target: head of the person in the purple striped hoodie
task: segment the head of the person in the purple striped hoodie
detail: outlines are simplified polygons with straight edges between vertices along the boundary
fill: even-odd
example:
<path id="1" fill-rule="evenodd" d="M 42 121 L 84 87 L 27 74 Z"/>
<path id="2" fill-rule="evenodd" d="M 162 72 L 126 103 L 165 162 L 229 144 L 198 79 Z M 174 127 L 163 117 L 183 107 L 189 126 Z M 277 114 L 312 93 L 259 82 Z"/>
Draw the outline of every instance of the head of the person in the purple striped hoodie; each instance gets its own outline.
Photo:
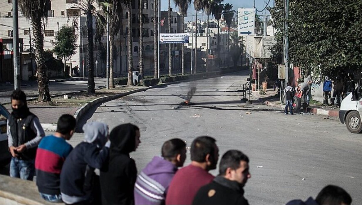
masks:
<path id="1" fill-rule="evenodd" d="M 184 166 L 186 159 L 186 143 L 178 138 L 165 141 L 161 149 L 162 157 L 177 167 Z"/>

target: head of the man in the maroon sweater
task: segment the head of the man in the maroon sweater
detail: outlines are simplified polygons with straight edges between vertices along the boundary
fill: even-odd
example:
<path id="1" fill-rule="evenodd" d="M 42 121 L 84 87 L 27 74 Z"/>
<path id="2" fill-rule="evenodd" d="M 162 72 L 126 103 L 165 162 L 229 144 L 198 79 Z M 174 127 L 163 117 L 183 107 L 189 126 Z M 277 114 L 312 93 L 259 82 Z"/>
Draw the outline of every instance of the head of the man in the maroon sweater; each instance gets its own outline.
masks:
<path id="1" fill-rule="evenodd" d="M 216 169 L 219 148 L 216 140 L 209 136 L 197 137 L 191 144 L 191 161 L 205 163 L 206 170 Z"/>

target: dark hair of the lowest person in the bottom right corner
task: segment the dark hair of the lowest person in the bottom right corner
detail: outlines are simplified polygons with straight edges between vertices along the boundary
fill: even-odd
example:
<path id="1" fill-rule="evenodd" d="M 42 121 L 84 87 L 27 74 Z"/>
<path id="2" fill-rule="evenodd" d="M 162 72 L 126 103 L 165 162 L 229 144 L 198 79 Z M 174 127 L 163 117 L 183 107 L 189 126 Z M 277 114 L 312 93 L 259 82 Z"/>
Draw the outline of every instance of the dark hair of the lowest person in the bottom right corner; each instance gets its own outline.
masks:
<path id="1" fill-rule="evenodd" d="M 328 185 L 319 192 L 316 202 L 318 204 L 351 204 L 352 198 L 341 187 Z"/>

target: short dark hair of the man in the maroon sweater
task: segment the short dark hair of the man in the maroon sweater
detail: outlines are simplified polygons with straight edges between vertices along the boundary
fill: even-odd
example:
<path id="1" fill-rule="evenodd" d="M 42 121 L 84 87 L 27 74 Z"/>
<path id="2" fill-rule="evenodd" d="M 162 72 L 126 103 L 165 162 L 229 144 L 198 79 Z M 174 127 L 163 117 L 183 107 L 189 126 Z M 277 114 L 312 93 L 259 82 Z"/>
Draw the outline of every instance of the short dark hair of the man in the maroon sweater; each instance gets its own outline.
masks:
<path id="1" fill-rule="evenodd" d="M 207 154 L 214 157 L 216 140 L 209 136 L 197 137 L 191 144 L 191 161 L 205 162 Z"/>

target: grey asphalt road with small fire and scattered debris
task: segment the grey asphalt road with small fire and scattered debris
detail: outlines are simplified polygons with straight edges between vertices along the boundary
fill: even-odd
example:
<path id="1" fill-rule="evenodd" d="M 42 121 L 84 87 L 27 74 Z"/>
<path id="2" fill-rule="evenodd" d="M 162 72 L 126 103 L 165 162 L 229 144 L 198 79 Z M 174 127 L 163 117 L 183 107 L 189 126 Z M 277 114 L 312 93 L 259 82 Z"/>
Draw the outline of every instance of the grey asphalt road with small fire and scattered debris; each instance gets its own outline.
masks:
<path id="1" fill-rule="evenodd" d="M 160 155 L 165 140 L 178 137 L 190 146 L 195 137 L 209 135 L 217 140 L 220 158 L 230 149 L 249 156 L 252 178 L 245 186 L 245 197 L 251 204 L 306 200 L 328 184 L 345 188 L 353 203 L 361 204 L 362 135 L 349 133 L 338 119 L 284 115 L 261 104 L 241 104 L 238 90 L 246 77 L 223 76 L 151 89 L 105 103 L 88 118 L 103 121 L 110 129 L 128 122 L 140 127 L 142 142 L 131 153 L 138 171 Z M 191 86 L 197 87 L 191 106 L 180 106 Z M 80 138 L 74 137 L 73 143 Z M 189 162 L 188 156 L 185 165 Z"/>

